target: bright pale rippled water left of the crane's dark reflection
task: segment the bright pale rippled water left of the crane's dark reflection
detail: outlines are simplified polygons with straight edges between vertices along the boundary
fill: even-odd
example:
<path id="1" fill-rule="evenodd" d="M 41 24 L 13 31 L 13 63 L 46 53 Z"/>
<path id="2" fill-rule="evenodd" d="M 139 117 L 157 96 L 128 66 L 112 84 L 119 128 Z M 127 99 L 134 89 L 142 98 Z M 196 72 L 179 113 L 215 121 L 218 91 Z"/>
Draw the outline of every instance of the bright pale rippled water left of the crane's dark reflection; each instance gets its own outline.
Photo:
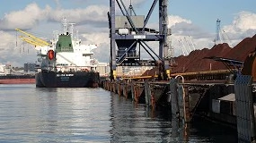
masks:
<path id="1" fill-rule="evenodd" d="M 0 93 L 1 141 L 110 140 L 110 96 L 102 89 L 15 89 Z"/>

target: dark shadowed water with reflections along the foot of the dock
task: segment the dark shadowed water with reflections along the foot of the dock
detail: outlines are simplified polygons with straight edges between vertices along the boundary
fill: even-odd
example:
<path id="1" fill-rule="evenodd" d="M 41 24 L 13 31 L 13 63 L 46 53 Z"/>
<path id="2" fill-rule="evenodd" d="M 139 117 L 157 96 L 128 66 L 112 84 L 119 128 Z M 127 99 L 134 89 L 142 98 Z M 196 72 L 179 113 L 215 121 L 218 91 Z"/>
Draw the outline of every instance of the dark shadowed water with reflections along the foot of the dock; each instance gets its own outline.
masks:
<path id="1" fill-rule="evenodd" d="M 203 119 L 185 123 L 170 117 L 169 109 L 153 111 L 115 94 L 110 97 L 111 142 L 236 142 L 233 129 Z"/>

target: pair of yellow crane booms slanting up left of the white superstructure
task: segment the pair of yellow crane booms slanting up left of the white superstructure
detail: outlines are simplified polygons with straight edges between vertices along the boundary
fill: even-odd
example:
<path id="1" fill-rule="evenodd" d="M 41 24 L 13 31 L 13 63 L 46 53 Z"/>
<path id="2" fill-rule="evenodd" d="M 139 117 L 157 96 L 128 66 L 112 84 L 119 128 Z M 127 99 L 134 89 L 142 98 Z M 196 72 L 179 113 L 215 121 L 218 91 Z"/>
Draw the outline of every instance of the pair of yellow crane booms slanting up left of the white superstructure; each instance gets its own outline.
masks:
<path id="1" fill-rule="evenodd" d="M 25 35 L 25 36 L 20 36 L 20 38 L 22 38 L 23 41 L 33 46 L 49 46 L 50 45 L 47 41 L 37 38 L 31 35 L 30 33 L 23 31 L 22 29 L 16 29 L 16 30 Z"/>

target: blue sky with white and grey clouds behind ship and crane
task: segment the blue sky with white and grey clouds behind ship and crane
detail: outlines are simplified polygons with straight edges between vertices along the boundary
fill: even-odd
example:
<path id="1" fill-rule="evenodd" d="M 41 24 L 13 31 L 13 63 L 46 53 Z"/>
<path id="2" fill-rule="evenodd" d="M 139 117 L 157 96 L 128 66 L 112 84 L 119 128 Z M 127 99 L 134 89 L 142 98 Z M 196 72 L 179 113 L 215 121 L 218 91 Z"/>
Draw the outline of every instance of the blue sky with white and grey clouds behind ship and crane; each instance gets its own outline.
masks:
<path id="1" fill-rule="evenodd" d="M 128 6 L 130 0 L 123 0 Z M 148 13 L 154 0 L 132 0 L 137 15 Z M 23 66 L 35 63 L 37 51 L 24 44 L 15 29 L 25 30 L 38 38 L 49 40 L 54 30 L 61 29 L 61 19 L 75 22 L 83 44 L 99 46 L 94 57 L 110 61 L 110 38 L 107 13 L 108 0 L 8 0 L 0 5 L 0 63 Z M 243 38 L 256 34 L 255 0 L 169 0 L 168 28 L 174 56 L 187 55 L 194 49 L 211 48 L 216 38 L 219 19 L 221 42 L 235 46 Z M 118 7 L 118 6 L 117 6 Z M 147 27 L 158 29 L 158 8 Z M 155 46 L 157 47 L 157 46 Z M 157 50 L 157 48 L 154 48 Z M 187 52 L 186 52 L 187 51 Z M 157 52 L 156 52 L 157 53 Z"/>

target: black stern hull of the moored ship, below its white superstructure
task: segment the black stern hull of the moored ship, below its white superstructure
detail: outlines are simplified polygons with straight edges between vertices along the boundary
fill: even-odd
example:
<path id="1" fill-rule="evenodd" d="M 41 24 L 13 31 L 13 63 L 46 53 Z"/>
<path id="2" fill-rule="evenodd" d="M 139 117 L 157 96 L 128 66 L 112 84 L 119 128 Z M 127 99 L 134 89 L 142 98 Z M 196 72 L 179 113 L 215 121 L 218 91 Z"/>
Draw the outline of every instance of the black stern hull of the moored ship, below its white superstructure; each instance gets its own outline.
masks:
<path id="1" fill-rule="evenodd" d="M 41 71 L 36 74 L 37 88 L 98 88 L 99 83 L 99 72 Z"/>

